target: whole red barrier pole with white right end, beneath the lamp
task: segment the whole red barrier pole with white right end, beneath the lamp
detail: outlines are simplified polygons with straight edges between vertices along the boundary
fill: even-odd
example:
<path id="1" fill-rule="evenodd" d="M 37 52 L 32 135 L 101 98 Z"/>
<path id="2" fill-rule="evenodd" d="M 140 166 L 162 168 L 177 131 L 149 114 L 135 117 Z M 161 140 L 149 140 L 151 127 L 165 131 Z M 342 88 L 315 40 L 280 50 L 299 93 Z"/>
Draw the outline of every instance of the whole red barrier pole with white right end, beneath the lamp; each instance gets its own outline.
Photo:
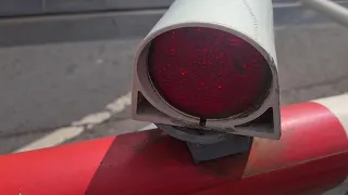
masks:
<path id="1" fill-rule="evenodd" d="M 279 141 L 195 165 L 162 131 L 123 134 L 0 157 L 0 194 L 323 194 L 348 176 L 348 95 L 282 108 Z"/>

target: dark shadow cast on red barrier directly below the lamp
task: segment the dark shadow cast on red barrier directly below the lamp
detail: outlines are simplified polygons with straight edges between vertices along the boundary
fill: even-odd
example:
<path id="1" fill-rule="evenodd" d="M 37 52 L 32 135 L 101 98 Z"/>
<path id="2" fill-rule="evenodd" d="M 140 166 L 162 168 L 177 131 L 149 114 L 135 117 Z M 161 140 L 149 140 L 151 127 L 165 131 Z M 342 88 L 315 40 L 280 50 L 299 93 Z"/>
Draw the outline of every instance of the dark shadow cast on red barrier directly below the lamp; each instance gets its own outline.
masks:
<path id="1" fill-rule="evenodd" d="M 248 154 L 195 165 L 185 142 L 160 130 L 115 139 L 97 169 L 87 195 L 182 194 L 240 180 Z"/>

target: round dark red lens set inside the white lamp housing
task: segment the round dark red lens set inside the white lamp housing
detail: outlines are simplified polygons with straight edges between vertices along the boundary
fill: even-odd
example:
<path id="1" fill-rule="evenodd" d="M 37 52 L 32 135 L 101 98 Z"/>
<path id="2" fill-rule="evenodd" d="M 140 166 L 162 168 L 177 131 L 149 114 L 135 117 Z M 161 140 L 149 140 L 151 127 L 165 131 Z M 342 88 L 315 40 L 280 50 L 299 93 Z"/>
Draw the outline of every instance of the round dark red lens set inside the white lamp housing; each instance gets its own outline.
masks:
<path id="1" fill-rule="evenodd" d="M 250 43 L 222 30 L 198 27 L 158 36 L 148 69 L 169 104 L 207 119 L 260 106 L 272 79 L 268 62 Z"/>

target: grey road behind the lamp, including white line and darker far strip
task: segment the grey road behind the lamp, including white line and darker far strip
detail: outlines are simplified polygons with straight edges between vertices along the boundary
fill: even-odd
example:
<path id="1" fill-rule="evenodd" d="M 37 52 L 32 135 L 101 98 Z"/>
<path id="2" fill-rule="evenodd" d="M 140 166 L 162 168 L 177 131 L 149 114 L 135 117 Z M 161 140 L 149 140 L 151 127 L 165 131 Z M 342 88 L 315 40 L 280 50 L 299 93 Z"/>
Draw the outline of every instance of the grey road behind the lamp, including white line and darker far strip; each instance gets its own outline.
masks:
<path id="1" fill-rule="evenodd" d="M 282 104 L 347 92 L 348 29 L 276 6 Z M 133 56 L 163 10 L 146 13 L 0 21 L 0 154 L 147 126 L 129 118 Z"/>

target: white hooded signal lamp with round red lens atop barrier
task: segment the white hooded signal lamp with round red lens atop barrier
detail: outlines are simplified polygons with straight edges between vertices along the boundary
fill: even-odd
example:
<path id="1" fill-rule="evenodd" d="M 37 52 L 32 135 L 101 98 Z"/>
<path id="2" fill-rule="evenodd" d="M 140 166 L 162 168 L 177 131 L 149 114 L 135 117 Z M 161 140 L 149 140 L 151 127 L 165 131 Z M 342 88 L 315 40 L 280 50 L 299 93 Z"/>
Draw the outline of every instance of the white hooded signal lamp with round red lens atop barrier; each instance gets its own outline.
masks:
<path id="1" fill-rule="evenodd" d="M 132 115 L 209 134 L 279 139 L 272 1 L 176 0 L 137 50 Z"/>

